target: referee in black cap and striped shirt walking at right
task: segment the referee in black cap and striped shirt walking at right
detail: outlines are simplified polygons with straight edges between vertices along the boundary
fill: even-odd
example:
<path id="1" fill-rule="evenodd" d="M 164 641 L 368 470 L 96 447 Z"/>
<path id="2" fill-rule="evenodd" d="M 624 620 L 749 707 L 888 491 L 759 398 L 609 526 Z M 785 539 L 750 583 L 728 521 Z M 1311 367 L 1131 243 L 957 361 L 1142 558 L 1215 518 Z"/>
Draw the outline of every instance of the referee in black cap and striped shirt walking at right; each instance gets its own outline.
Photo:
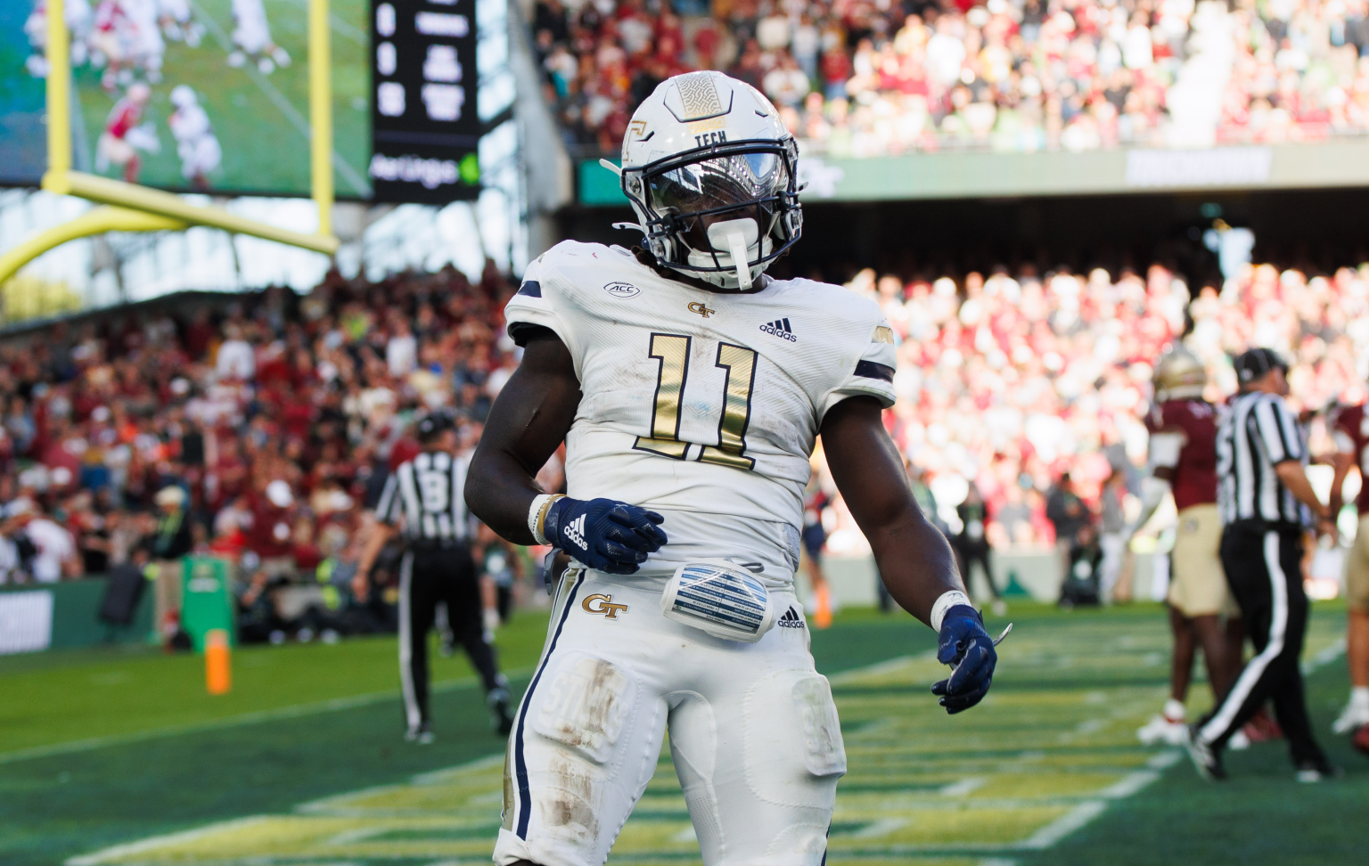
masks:
<path id="1" fill-rule="evenodd" d="M 1329 509 L 1307 482 L 1307 445 L 1284 404 L 1288 365 L 1269 349 L 1236 358 L 1240 393 L 1217 428 L 1217 508 L 1221 565 L 1255 646 L 1225 699 L 1188 731 L 1188 754 L 1207 778 L 1225 778 L 1221 754 L 1265 705 L 1288 737 L 1299 781 L 1335 774 L 1312 735 L 1302 672 L 1307 628 L 1302 591 L 1303 532 L 1328 528 Z"/>

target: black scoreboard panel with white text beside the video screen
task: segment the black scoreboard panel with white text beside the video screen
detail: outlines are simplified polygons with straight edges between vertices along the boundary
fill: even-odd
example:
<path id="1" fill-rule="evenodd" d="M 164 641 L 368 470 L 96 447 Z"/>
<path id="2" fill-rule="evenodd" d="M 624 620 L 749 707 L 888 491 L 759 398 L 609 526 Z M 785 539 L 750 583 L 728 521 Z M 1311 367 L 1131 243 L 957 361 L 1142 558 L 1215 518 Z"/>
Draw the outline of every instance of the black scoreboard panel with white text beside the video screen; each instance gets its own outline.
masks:
<path id="1" fill-rule="evenodd" d="M 481 192 L 475 0 L 371 0 L 375 201 Z"/>

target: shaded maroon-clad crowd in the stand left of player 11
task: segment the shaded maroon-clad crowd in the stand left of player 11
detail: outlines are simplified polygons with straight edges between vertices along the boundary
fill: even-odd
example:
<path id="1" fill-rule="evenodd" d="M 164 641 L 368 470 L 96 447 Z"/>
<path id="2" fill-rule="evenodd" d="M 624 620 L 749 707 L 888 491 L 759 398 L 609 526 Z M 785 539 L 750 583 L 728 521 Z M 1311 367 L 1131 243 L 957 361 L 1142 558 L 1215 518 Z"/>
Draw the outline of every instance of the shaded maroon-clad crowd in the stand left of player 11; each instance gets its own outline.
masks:
<path id="1" fill-rule="evenodd" d="M 476 283 L 450 267 L 331 274 L 304 297 L 268 289 L 8 341 L 0 583 L 193 550 L 244 566 L 245 610 L 315 576 L 345 592 L 331 577 L 357 560 L 364 508 L 419 450 L 409 421 L 444 409 L 467 445 L 479 438 L 516 364 L 500 327 L 512 291 L 493 264 Z"/>

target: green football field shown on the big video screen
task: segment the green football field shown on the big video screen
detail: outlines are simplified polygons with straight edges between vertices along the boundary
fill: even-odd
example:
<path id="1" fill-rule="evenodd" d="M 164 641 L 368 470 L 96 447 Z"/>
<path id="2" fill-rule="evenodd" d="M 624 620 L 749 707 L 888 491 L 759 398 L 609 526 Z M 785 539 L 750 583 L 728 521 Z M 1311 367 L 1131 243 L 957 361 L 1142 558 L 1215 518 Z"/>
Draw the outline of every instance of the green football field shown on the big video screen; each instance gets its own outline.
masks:
<path id="1" fill-rule="evenodd" d="M 196 48 L 167 40 L 163 81 L 152 85 L 144 116 L 152 122 L 162 149 L 141 153 L 138 182 L 189 190 L 181 174 L 175 140 L 167 127 L 171 89 L 189 85 L 200 97 L 223 149 L 223 161 L 209 175 L 215 192 L 309 193 L 309 85 L 307 0 L 264 0 L 271 38 L 292 59 L 289 67 L 261 73 L 251 60 L 230 67 L 231 0 L 190 0 L 194 21 L 204 27 Z M 333 167 L 340 197 L 368 197 L 371 156 L 370 23 L 367 0 L 331 0 Z M 96 170 L 96 152 L 105 118 L 119 93 L 100 85 L 100 70 L 75 70 L 75 167 Z M 122 176 L 116 167 L 103 171 Z"/>

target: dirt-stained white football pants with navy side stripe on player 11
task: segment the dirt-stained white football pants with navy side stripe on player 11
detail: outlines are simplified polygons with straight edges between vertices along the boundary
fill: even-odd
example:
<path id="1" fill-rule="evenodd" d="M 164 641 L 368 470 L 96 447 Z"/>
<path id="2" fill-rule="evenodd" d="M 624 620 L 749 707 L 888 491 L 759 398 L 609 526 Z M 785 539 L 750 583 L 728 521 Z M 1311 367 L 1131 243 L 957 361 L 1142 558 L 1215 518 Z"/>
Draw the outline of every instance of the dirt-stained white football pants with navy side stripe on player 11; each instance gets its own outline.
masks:
<path id="1" fill-rule="evenodd" d="M 667 726 L 705 866 L 823 862 L 846 752 L 802 607 L 772 590 L 778 624 L 737 643 L 665 618 L 664 583 L 561 580 L 509 737 L 500 866 L 601 866 Z"/>

